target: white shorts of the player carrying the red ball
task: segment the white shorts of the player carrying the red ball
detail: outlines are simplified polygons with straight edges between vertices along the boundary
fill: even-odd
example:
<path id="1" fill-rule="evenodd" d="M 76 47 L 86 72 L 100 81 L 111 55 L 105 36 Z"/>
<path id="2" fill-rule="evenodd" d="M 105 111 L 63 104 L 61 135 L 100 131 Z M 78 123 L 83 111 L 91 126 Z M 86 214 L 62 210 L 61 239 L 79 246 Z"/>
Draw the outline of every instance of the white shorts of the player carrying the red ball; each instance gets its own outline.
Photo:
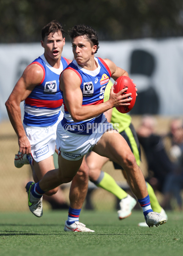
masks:
<path id="1" fill-rule="evenodd" d="M 103 129 L 101 129 L 101 125 Z M 89 135 L 70 133 L 63 129 L 60 122 L 56 131 L 56 148 L 63 158 L 77 161 L 95 146 L 107 130 L 114 130 L 114 128 L 111 123 L 107 122 L 105 115 L 102 117 L 99 129 Z"/>

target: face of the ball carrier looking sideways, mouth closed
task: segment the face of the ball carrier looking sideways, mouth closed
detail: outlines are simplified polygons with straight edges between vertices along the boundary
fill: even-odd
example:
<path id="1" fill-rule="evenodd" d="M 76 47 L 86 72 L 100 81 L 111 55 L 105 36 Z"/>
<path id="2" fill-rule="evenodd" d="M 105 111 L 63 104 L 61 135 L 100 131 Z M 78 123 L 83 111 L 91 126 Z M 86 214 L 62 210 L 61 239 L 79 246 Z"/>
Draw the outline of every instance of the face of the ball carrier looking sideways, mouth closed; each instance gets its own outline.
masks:
<path id="1" fill-rule="evenodd" d="M 73 39 L 72 48 L 74 59 L 80 66 L 85 66 L 94 56 L 97 46 L 91 46 L 90 42 L 84 36 L 78 36 Z"/>

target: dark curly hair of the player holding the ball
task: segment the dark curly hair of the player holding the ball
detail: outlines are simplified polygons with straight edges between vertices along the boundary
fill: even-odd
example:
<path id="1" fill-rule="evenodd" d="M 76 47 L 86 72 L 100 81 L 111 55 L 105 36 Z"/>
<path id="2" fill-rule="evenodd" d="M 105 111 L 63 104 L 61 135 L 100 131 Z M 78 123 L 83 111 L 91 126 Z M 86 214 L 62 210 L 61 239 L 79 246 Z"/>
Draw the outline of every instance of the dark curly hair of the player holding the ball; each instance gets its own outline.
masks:
<path id="1" fill-rule="evenodd" d="M 74 38 L 84 35 L 90 42 L 91 47 L 94 45 L 97 46 L 97 49 L 95 52 L 97 53 L 97 50 L 99 49 L 98 35 L 97 35 L 97 32 L 92 27 L 84 24 L 76 25 L 69 30 L 69 35 L 72 42 Z"/>

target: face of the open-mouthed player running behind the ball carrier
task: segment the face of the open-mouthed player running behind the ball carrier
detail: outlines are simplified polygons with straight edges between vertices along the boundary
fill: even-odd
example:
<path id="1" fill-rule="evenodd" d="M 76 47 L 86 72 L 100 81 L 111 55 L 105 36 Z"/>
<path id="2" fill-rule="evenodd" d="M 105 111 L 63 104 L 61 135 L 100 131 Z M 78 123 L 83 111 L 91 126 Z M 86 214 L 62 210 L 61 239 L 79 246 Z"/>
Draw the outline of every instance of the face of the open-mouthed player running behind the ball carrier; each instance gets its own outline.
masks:
<path id="1" fill-rule="evenodd" d="M 45 36 L 44 41 L 41 40 L 41 45 L 45 48 L 45 57 L 58 60 L 62 55 L 65 38 L 63 38 L 62 33 L 59 31 L 53 35 Z"/>

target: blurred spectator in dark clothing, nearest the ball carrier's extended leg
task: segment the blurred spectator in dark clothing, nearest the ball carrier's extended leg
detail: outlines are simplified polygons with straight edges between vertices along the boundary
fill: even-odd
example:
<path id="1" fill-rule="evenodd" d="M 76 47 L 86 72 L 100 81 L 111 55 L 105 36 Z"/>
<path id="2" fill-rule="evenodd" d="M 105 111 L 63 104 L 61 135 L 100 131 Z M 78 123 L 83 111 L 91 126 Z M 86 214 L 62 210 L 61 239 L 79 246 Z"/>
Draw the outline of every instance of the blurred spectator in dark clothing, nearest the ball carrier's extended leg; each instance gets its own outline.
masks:
<path id="1" fill-rule="evenodd" d="M 163 192 L 165 177 L 173 172 L 174 163 L 167 155 L 162 136 L 155 133 L 156 124 L 153 116 L 144 115 L 137 135 L 148 164 L 146 181 L 154 190 Z"/>

